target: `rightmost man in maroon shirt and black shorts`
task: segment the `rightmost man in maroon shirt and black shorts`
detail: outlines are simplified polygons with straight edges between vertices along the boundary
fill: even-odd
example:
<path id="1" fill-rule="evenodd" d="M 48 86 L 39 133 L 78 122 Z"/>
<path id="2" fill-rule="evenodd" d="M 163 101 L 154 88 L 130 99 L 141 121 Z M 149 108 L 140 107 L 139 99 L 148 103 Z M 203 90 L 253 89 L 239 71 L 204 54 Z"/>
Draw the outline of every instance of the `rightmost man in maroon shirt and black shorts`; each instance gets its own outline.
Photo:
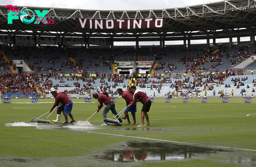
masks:
<path id="1" fill-rule="evenodd" d="M 137 102 L 137 100 L 139 100 L 139 102 L 141 102 L 143 104 L 143 107 L 141 109 L 141 124 L 138 125 L 137 127 L 143 127 L 143 126 L 150 126 L 149 124 L 149 118 L 148 118 L 148 112 L 151 106 L 151 100 L 149 99 L 149 97 L 142 92 L 141 90 L 137 90 L 135 86 L 131 86 L 130 92 L 132 92 L 133 94 L 133 102 L 128 105 L 127 107 L 132 106 L 133 104 L 135 104 Z M 144 125 L 144 116 L 146 117 L 147 120 L 147 124 Z"/>

